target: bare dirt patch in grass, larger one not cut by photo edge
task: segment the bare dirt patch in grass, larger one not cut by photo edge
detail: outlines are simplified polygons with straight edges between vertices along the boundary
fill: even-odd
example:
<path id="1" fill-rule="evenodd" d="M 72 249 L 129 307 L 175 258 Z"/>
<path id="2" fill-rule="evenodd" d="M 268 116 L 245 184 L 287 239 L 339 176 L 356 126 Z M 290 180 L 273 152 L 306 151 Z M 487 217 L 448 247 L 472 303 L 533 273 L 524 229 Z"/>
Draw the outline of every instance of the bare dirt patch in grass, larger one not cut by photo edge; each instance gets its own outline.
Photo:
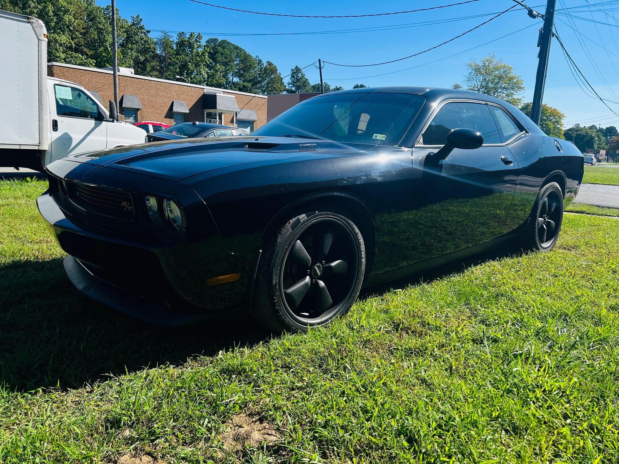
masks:
<path id="1" fill-rule="evenodd" d="M 223 448 L 232 452 L 248 447 L 258 447 L 262 443 L 272 445 L 282 436 L 272 424 L 251 418 L 245 413 L 233 416 L 226 424 L 222 434 Z"/>

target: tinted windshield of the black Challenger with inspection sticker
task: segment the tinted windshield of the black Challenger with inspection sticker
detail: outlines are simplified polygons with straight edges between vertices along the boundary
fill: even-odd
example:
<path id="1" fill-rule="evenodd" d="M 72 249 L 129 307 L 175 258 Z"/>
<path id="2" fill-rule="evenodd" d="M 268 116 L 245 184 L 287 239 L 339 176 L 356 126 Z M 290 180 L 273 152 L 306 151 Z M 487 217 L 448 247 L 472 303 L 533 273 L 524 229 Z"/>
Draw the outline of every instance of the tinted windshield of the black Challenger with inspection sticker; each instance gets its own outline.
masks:
<path id="1" fill-rule="evenodd" d="M 337 93 L 290 108 L 252 135 L 311 137 L 339 142 L 397 145 L 424 97 L 407 93 Z"/>

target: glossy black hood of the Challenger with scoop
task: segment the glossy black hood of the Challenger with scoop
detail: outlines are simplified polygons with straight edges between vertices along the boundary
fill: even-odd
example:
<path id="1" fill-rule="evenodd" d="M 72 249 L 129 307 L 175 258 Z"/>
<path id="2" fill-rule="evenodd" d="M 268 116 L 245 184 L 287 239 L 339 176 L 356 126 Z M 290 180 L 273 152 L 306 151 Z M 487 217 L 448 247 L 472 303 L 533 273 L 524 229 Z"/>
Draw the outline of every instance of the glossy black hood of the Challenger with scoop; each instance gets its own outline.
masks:
<path id="1" fill-rule="evenodd" d="M 87 163 L 161 179 L 182 179 L 219 170 L 256 163 L 308 160 L 366 152 L 376 145 L 343 144 L 331 140 L 296 137 L 220 137 L 215 140 L 183 139 L 82 153 L 63 161 Z M 50 168 L 53 167 L 50 165 Z"/>

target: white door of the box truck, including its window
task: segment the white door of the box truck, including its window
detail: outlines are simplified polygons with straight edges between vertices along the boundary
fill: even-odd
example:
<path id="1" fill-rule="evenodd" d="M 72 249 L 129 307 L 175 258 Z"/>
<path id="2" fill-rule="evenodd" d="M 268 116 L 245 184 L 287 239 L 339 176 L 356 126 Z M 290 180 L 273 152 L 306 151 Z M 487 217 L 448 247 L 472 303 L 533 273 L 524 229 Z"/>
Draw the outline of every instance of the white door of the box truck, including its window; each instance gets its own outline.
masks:
<path id="1" fill-rule="evenodd" d="M 72 85 L 53 85 L 50 92 L 51 160 L 105 150 L 107 126 L 97 103 Z"/>

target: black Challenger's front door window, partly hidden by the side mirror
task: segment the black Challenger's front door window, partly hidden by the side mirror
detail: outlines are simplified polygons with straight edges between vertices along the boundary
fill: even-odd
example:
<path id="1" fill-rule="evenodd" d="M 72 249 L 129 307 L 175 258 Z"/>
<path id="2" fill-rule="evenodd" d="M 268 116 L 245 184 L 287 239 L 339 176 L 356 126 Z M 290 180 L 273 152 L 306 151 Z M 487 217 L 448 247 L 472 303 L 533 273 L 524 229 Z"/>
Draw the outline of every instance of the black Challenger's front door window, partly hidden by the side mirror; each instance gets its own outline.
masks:
<path id="1" fill-rule="evenodd" d="M 423 132 L 422 145 L 444 145 L 447 143 L 449 132 L 461 127 L 481 132 L 484 145 L 501 143 L 499 131 L 488 105 L 454 101 L 443 105 L 436 113 Z"/>

